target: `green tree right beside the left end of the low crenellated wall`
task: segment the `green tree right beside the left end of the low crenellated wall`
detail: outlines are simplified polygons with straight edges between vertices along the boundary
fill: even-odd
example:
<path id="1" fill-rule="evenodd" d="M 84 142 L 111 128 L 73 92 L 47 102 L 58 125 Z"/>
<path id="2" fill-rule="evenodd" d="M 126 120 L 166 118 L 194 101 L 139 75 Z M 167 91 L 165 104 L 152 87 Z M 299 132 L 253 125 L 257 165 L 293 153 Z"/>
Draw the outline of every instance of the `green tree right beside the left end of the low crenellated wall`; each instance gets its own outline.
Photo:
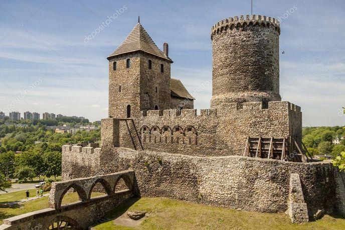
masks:
<path id="1" fill-rule="evenodd" d="M 43 155 L 44 159 L 44 174 L 47 177 L 61 175 L 61 164 L 62 164 L 62 154 L 61 152 L 46 152 Z"/>

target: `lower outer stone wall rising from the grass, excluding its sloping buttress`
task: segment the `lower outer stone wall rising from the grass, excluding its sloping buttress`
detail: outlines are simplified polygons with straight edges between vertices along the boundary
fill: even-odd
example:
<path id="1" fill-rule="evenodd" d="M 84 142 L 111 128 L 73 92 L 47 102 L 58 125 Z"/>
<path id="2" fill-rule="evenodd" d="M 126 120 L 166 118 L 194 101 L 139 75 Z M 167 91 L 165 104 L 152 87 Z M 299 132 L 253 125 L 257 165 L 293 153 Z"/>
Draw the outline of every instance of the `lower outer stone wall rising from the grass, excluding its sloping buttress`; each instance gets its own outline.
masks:
<path id="1" fill-rule="evenodd" d="M 290 175 L 300 177 L 308 215 L 333 211 L 335 168 L 330 162 L 293 163 L 240 156 L 194 157 L 150 151 L 119 154 L 119 170 L 135 172 L 142 196 L 169 197 L 248 211 L 284 212 Z"/>

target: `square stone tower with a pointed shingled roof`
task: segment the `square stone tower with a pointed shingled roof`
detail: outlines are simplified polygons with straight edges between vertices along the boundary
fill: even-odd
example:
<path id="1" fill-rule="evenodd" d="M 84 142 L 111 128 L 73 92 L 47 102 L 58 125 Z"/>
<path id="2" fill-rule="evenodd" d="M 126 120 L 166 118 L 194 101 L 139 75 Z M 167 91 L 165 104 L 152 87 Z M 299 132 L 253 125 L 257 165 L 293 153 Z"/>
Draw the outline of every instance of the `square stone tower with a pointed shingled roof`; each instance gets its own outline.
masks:
<path id="1" fill-rule="evenodd" d="M 172 60 L 140 23 L 107 59 L 110 117 L 137 118 L 140 110 L 169 108 Z"/>

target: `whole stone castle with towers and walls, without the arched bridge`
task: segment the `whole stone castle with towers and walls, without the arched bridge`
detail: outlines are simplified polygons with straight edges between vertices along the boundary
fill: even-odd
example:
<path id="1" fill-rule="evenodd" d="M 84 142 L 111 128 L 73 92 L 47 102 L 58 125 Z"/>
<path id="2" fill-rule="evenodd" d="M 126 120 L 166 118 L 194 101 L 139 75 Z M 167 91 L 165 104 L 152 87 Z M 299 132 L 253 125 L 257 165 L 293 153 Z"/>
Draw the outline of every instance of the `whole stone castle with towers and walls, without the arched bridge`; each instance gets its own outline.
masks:
<path id="1" fill-rule="evenodd" d="M 293 222 L 317 210 L 345 213 L 345 177 L 310 162 L 300 107 L 279 95 L 280 24 L 266 16 L 212 27 L 211 108 L 170 77 L 161 51 L 138 23 L 109 60 L 109 118 L 101 148 L 63 146 L 63 180 L 133 170 L 135 191 L 260 212 Z"/>

